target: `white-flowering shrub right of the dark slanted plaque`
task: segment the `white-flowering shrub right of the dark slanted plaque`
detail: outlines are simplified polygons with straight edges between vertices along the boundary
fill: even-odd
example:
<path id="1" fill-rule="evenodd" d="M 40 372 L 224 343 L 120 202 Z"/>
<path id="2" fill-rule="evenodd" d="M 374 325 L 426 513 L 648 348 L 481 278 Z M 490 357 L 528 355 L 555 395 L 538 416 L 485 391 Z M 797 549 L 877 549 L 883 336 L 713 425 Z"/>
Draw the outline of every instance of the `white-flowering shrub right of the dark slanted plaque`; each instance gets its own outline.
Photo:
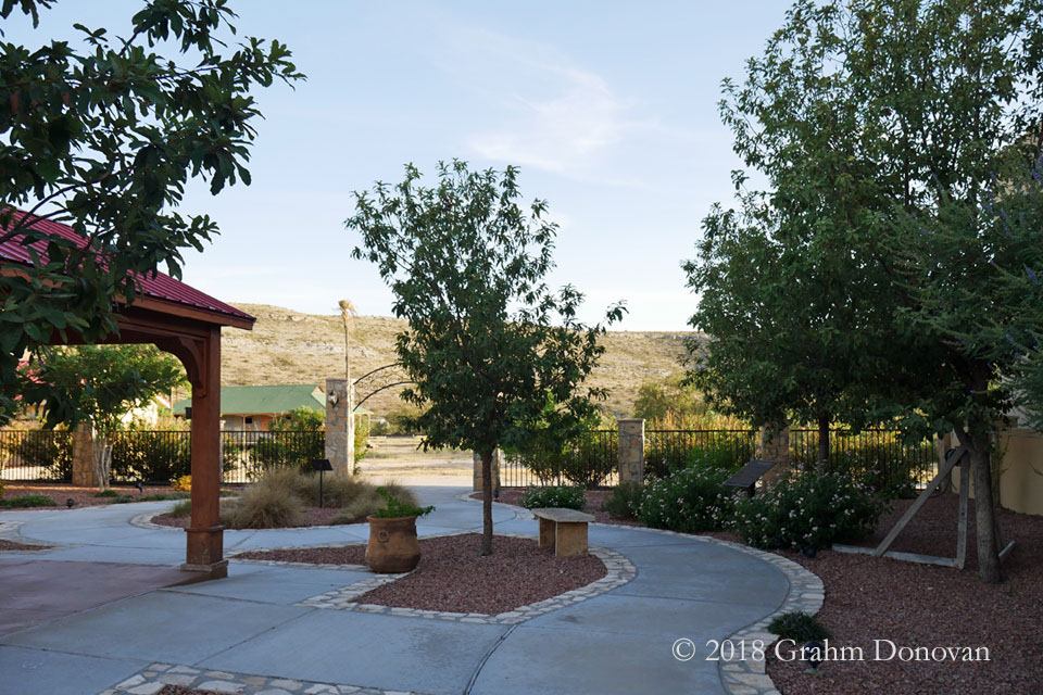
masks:
<path id="1" fill-rule="evenodd" d="M 808 470 L 740 500 L 733 525 L 743 541 L 757 547 L 821 548 L 869 535 L 882 511 L 882 503 L 860 480 Z"/>

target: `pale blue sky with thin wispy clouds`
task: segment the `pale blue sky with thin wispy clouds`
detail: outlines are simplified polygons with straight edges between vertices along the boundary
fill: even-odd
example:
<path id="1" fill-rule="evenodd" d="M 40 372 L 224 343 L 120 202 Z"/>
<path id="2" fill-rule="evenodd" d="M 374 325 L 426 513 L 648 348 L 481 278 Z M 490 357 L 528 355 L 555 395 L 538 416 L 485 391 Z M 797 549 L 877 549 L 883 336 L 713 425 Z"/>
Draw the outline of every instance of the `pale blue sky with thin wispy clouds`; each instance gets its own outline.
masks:
<path id="1" fill-rule="evenodd" d="M 222 233 L 185 252 L 186 282 L 231 303 L 334 314 L 350 299 L 389 316 L 376 268 L 350 256 L 352 192 L 400 181 L 405 163 L 432 175 L 456 157 L 516 165 L 524 199 L 548 201 L 561 225 L 550 280 L 586 294 L 580 318 L 621 300 L 616 329 L 689 328 L 696 298 L 680 264 L 711 205 L 733 204 L 742 167 L 720 80 L 742 78 L 787 2 L 229 4 L 240 37 L 287 43 L 307 80 L 256 92 L 251 186 L 190 187 L 183 211 L 210 214 Z M 4 40 L 72 38 L 74 22 L 125 36 L 138 7 L 63 0 L 39 29 L 7 22 Z"/>

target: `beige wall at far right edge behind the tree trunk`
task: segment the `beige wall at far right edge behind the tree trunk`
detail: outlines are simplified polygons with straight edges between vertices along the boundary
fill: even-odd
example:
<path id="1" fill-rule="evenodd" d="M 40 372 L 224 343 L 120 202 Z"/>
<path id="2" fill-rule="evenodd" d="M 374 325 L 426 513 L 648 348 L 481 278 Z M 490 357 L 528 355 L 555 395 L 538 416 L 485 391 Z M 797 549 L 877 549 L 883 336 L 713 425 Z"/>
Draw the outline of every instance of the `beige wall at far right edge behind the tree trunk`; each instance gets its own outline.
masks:
<path id="1" fill-rule="evenodd" d="M 1029 429 L 1007 430 L 1000 435 L 1000 504 L 1014 511 L 1043 516 L 1043 434 Z M 953 489 L 959 469 L 953 471 Z M 971 482 L 970 495 L 975 495 Z"/>

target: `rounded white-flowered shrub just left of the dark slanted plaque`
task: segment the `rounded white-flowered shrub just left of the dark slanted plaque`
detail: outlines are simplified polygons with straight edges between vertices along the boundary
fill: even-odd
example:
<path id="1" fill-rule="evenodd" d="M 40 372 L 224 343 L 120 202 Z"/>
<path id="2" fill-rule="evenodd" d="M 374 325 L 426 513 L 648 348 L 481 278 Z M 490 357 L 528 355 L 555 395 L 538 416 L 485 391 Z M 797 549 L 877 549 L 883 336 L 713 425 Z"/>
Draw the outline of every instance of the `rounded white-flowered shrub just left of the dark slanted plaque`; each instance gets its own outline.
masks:
<path id="1" fill-rule="evenodd" d="M 681 533 L 725 528 L 740 494 L 722 484 L 729 476 L 717 468 L 686 468 L 653 480 L 641 501 L 641 521 L 653 529 Z"/>

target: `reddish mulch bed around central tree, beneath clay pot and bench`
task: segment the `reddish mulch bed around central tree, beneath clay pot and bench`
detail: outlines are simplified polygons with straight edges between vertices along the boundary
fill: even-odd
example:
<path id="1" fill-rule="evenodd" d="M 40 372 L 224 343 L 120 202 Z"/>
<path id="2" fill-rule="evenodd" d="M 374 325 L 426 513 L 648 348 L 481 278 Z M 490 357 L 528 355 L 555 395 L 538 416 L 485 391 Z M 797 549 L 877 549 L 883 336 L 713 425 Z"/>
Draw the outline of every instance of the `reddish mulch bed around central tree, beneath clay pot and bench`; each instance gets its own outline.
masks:
<path id="1" fill-rule="evenodd" d="M 498 535 L 492 555 L 481 557 L 481 534 L 464 533 L 420 541 L 420 563 L 403 577 L 360 596 L 362 604 L 422 610 L 500 614 L 543 601 L 604 577 L 593 555 L 555 557 L 531 539 Z M 306 551 L 242 553 L 236 557 L 362 565 L 364 545 Z"/>

